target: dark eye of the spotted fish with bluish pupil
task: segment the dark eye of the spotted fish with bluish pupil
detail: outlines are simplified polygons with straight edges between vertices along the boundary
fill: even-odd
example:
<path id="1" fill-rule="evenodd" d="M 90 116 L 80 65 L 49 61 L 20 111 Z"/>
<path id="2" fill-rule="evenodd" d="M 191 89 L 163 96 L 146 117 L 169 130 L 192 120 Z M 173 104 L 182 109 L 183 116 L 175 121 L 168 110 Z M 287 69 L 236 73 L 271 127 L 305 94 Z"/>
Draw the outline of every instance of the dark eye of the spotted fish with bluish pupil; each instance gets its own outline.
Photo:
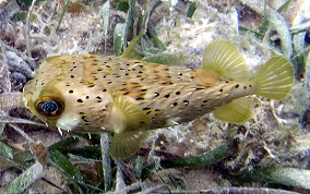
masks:
<path id="1" fill-rule="evenodd" d="M 36 109 L 38 113 L 45 117 L 53 118 L 60 116 L 63 112 L 64 105 L 62 100 L 47 98 L 38 101 L 36 104 Z"/>

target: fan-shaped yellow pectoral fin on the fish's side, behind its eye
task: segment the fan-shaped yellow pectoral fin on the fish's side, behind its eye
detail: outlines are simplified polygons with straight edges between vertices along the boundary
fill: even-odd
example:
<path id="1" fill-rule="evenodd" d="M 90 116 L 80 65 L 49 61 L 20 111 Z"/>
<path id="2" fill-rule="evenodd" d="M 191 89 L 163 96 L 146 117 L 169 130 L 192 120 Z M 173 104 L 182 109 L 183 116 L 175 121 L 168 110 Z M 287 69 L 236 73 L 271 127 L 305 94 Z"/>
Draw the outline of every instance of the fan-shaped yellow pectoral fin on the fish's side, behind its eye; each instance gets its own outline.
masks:
<path id="1" fill-rule="evenodd" d="M 133 155 L 147 137 L 151 118 L 128 97 L 110 93 L 116 109 L 115 134 L 111 141 L 110 155 L 115 158 L 127 158 Z"/>

